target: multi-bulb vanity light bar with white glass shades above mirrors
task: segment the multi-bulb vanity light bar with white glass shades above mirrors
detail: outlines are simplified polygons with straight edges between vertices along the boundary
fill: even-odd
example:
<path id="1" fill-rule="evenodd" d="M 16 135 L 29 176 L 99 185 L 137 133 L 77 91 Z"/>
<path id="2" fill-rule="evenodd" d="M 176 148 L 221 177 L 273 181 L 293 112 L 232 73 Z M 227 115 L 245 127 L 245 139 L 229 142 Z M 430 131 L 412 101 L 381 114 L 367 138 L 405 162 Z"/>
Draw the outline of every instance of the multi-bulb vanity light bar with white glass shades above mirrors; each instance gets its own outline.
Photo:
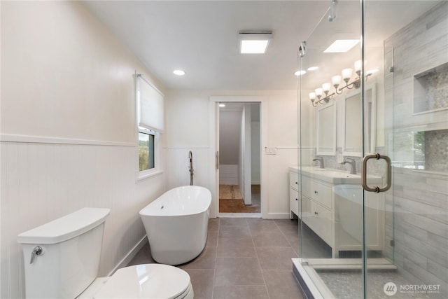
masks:
<path id="1" fill-rule="evenodd" d="M 353 69 L 343 69 L 341 71 L 341 75 L 336 75 L 331 77 L 331 83 L 323 83 L 322 88 L 316 88 L 314 92 L 309 93 L 309 99 L 314 107 L 317 107 L 318 104 L 322 104 L 323 102 L 328 103 L 330 99 L 332 99 L 335 95 L 341 95 L 344 88 L 353 89 L 360 88 L 361 85 L 361 71 L 363 69 L 363 62 L 361 60 L 356 60 L 355 62 L 355 73 L 357 77 L 349 83 L 351 75 L 353 74 Z M 366 72 L 365 81 L 369 76 L 376 73 L 378 69 L 371 69 Z M 339 88 L 341 85 L 341 81 L 344 81 L 345 85 Z M 330 93 L 331 86 L 335 88 L 335 91 Z"/>

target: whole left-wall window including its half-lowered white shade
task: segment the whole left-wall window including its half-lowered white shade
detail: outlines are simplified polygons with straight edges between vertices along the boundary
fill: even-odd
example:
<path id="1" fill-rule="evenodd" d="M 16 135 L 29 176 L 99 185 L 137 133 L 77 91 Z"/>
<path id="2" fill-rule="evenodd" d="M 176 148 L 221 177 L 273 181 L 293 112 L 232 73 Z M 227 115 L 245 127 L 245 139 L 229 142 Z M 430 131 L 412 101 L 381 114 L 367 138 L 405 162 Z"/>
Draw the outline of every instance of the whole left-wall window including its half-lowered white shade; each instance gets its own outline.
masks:
<path id="1" fill-rule="evenodd" d="M 164 125 L 162 93 L 141 75 L 136 76 L 138 179 L 162 172 L 160 148 Z"/>

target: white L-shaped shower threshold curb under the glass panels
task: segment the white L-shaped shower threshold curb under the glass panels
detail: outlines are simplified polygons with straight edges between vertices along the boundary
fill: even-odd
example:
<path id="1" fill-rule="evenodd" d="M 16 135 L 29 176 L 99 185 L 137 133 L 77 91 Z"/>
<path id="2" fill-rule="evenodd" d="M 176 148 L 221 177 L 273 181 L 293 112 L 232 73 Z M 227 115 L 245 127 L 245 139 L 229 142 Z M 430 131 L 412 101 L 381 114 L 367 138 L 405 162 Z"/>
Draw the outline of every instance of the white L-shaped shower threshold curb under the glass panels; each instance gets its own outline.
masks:
<path id="1" fill-rule="evenodd" d="M 360 258 L 292 258 L 293 274 L 308 299 L 337 298 L 319 275 L 319 271 L 360 271 Z M 386 258 L 367 259 L 368 270 L 395 271 L 397 267 Z"/>

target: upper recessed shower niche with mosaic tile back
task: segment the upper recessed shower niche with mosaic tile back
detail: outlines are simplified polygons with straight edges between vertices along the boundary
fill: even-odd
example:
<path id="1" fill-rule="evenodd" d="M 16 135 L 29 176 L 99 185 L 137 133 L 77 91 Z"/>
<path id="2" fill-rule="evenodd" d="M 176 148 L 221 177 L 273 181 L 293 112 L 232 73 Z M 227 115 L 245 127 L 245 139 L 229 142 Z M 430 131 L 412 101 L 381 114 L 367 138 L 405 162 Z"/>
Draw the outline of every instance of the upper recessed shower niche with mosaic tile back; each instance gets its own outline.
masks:
<path id="1" fill-rule="evenodd" d="M 414 113 L 448 109 L 448 62 L 414 75 Z"/>

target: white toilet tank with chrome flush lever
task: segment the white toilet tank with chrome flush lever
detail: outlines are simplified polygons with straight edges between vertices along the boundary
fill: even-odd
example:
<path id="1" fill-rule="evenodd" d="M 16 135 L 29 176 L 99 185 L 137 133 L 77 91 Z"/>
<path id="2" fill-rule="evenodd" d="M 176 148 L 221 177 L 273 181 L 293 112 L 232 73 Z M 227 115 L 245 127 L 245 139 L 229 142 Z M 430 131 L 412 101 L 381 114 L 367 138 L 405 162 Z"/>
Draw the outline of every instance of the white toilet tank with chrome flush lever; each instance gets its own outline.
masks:
<path id="1" fill-rule="evenodd" d="M 84 208 L 22 232 L 26 298 L 76 298 L 97 277 L 109 209 Z M 41 248 L 40 255 L 33 251 Z"/>

